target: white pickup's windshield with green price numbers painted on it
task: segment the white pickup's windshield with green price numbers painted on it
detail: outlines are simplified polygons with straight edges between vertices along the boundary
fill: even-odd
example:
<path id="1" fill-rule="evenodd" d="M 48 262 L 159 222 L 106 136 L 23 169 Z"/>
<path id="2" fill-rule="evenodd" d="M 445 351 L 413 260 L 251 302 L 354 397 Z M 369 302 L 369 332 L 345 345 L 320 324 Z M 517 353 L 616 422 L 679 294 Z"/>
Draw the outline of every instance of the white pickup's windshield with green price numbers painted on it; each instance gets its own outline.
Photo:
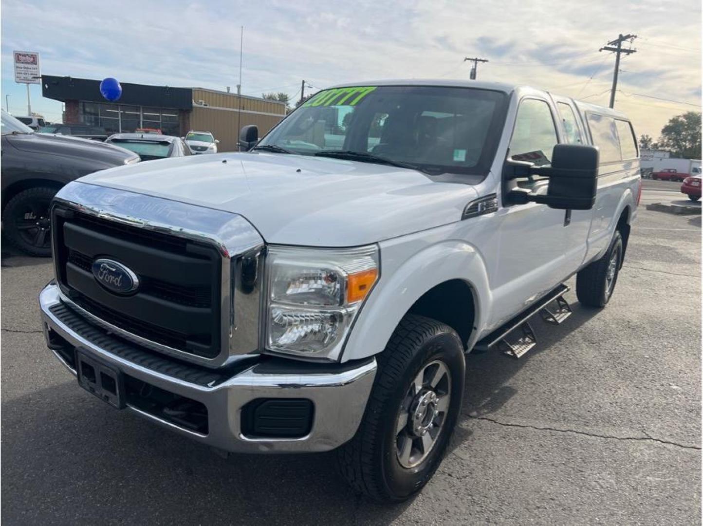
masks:
<path id="1" fill-rule="evenodd" d="M 375 156 L 434 173 L 479 174 L 487 172 L 494 155 L 506 101 L 505 94 L 486 89 L 328 89 L 295 110 L 258 146 L 300 155 L 337 150 L 367 162 Z"/>

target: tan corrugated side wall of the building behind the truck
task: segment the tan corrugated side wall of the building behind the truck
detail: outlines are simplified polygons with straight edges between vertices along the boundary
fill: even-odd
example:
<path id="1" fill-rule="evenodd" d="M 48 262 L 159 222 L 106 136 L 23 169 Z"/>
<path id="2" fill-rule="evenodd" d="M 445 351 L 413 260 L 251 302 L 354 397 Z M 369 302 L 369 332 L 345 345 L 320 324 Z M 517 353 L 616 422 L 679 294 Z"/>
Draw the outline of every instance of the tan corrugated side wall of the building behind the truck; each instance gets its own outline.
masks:
<path id="1" fill-rule="evenodd" d="M 285 105 L 274 101 L 264 101 L 260 98 L 242 97 L 238 100 L 236 94 L 226 94 L 206 89 L 193 89 L 193 111 L 190 115 L 190 129 L 212 131 L 215 139 L 220 142 L 218 151 L 229 152 L 237 150 L 239 130 L 247 124 L 259 127 L 259 136 L 285 117 Z M 207 106 L 197 105 L 205 101 Z M 242 105 L 239 117 L 239 104 Z M 273 115 L 266 115 L 273 114 Z"/>

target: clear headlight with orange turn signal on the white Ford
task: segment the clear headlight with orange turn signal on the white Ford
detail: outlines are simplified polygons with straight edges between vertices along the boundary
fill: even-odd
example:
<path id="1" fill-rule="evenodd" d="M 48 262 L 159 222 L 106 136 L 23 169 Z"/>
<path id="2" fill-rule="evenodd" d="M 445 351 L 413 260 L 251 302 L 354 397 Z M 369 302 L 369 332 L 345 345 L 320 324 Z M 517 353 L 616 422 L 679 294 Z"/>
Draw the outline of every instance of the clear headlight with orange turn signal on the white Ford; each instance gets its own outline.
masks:
<path id="1" fill-rule="evenodd" d="M 270 247 L 266 348 L 335 359 L 379 275 L 378 247 Z"/>

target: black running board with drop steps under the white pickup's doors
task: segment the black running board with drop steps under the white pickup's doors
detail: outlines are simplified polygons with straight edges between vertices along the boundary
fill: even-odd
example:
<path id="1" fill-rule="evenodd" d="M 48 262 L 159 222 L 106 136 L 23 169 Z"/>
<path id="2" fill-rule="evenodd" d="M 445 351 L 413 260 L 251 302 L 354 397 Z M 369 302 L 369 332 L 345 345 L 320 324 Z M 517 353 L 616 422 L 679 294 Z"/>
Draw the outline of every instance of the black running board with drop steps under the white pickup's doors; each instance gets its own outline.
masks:
<path id="1" fill-rule="evenodd" d="M 572 314 L 571 307 L 569 307 L 569 304 L 563 298 L 563 295 L 565 295 L 568 291 L 569 287 L 562 283 L 562 285 L 551 290 L 549 293 L 527 307 L 527 309 L 524 309 L 524 311 L 520 314 L 517 314 L 517 316 L 510 319 L 510 321 L 503 323 L 503 325 L 498 327 L 495 331 L 479 340 L 473 350 L 475 352 L 486 352 L 491 347 L 501 344 L 501 347 L 505 349 L 505 354 L 508 354 L 514 358 L 520 358 L 537 343 L 534 331 L 527 322 L 532 316 L 540 312 L 542 313 L 545 321 L 558 325 Z M 552 302 L 557 302 L 556 311 L 550 311 L 547 309 L 549 304 Z M 515 340 L 515 338 L 508 338 L 508 335 L 516 329 L 520 329 L 521 331 L 521 335 L 517 338 L 517 340 Z"/>

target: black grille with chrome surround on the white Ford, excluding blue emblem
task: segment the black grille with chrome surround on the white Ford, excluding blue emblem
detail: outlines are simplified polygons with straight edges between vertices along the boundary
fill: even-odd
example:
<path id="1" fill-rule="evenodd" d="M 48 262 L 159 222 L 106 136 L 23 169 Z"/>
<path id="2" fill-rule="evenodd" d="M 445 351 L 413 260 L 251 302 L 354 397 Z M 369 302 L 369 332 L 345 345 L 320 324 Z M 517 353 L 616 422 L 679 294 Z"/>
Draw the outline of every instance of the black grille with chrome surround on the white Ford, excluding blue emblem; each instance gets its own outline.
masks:
<path id="1" fill-rule="evenodd" d="M 207 366 L 259 349 L 264 244 L 243 217 L 72 183 L 58 193 L 52 222 L 63 300 L 91 321 Z M 98 257 L 134 270 L 136 293 L 98 284 Z"/>

